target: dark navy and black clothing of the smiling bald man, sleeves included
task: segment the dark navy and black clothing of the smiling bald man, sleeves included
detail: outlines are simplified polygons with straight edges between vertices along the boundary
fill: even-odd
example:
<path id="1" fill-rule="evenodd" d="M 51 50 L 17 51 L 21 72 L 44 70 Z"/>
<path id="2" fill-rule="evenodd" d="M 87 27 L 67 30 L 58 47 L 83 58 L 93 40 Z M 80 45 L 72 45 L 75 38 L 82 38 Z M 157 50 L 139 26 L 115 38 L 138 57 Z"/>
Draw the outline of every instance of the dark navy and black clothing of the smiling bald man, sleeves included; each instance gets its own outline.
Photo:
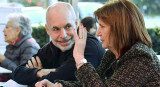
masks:
<path id="1" fill-rule="evenodd" d="M 73 58 L 73 48 L 74 46 L 65 52 L 60 51 L 59 48 L 55 47 L 52 42 L 46 44 L 42 47 L 35 56 L 39 56 L 42 66 L 44 69 L 56 68 L 55 72 L 50 72 L 48 75 L 42 78 L 37 78 L 37 68 L 27 68 L 25 64 L 20 65 L 13 72 L 13 80 L 23 85 L 33 85 L 37 81 L 48 79 L 51 82 L 54 80 L 66 80 L 75 81 L 75 61 Z M 102 48 L 102 44 L 99 40 L 87 33 L 87 42 L 85 48 L 85 58 L 88 62 L 97 68 L 100 64 L 100 60 L 104 55 L 105 50 Z"/>

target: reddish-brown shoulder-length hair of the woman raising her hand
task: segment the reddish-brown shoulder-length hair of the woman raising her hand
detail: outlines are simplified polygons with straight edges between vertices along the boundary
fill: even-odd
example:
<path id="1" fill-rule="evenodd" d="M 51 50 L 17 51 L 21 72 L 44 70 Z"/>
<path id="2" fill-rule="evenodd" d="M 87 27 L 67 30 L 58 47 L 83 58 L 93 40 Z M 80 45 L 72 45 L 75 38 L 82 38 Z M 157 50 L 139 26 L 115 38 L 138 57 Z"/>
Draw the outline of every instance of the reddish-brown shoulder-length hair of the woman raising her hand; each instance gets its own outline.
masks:
<path id="1" fill-rule="evenodd" d="M 120 55 L 138 41 L 152 47 L 143 16 L 132 2 L 128 0 L 110 1 L 97 9 L 94 14 L 97 21 L 101 19 L 111 26 L 110 37 L 114 41 L 114 49 Z"/>

